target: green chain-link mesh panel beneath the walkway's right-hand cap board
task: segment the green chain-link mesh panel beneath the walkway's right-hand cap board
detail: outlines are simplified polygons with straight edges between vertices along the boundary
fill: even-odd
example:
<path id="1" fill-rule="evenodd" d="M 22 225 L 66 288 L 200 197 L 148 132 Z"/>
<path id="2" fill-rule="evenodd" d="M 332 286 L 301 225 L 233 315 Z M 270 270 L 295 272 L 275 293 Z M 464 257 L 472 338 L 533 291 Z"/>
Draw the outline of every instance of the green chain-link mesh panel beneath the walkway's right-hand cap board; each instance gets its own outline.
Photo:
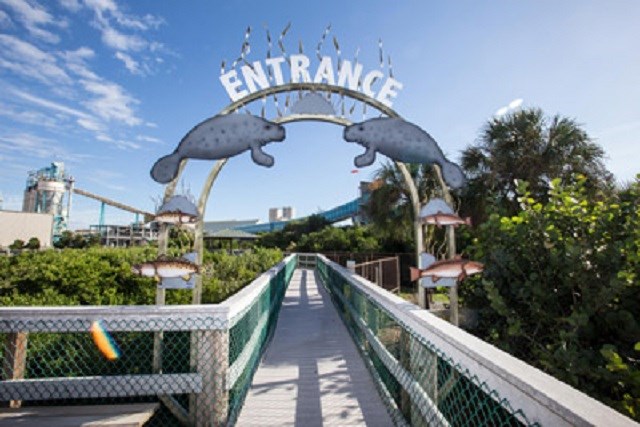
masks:
<path id="1" fill-rule="evenodd" d="M 532 425 L 498 393 L 353 286 L 320 257 L 318 274 L 398 425 Z"/>

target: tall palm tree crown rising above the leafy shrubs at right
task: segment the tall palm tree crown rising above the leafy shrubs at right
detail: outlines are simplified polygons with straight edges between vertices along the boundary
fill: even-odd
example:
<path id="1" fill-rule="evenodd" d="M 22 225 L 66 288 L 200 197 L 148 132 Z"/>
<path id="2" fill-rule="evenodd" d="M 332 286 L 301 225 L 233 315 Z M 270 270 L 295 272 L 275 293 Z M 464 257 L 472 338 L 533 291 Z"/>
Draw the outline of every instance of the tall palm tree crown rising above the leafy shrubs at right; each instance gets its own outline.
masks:
<path id="1" fill-rule="evenodd" d="M 584 175 L 594 189 L 612 188 L 603 159 L 604 150 L 572 119 L 547 119 L 538 108 L 495 117 L 478 143 L 462 153 L 469 178 L 463 205 L 475 219 L 487 204 L 514 214 L 518 181 L 528 182 L 532 197 L 545 201 L 553 178 L 569 180 L 574 174 Z"/>

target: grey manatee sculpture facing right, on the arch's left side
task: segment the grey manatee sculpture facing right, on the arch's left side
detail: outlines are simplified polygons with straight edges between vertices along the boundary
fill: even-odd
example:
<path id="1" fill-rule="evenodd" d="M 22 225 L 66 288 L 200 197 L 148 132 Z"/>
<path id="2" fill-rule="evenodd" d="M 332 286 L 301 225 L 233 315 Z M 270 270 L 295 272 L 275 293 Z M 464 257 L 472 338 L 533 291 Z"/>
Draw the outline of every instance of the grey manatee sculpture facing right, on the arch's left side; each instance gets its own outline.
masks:
<path id="1" fill-rule="evenodd" d="M 182 159 L 219 160 L 247 150 L 251 150 L 255 163 L 271 167 L 273 157 L 262 151 L 262 146 L 284 138 L 284 127 L 260 117 L 248 114 L 211 117 L 191 129 L 173 153 L 158 159 L 151 168 L 151 177 L 166 184 L 178 174 Z"/>

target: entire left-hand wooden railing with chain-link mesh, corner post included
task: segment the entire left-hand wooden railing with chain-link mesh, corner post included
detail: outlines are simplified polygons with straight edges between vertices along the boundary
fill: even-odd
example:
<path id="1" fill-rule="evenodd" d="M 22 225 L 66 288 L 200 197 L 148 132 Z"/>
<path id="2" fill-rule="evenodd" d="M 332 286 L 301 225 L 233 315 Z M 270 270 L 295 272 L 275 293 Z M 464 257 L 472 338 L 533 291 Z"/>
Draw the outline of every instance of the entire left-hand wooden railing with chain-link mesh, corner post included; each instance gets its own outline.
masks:
<path id="1" fill-rule="evenodd" d="M 257 297 L 231 319 L 223 304 L 2 309 L 0 402 L 159 402 L 147 425 L 233 424 L 295 267 L 290 256 L 256 279 L 247 288 L 258 289 Z M 117 359 L 94 344 L 95 320 L 120 348 Z"/>

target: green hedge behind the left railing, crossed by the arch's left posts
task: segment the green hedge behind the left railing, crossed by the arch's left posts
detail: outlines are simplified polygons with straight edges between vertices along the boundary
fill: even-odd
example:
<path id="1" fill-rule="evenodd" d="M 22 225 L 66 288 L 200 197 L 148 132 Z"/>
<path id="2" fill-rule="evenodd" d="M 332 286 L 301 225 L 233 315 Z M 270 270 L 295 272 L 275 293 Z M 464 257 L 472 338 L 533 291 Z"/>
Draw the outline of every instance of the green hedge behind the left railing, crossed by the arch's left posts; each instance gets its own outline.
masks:
<path id="1" fill-rule="evenodd" d="M 153 247 L 63 249 L 0 257 L 0 305 L 145 305 L 156 282 L 131 266 L 157 257 Z M 204 255 L 203 300 L 218 303 L 282 259 L 279 250 Z M 167 292 L 168 304 L 191 303 L 190 290 Z"/>

